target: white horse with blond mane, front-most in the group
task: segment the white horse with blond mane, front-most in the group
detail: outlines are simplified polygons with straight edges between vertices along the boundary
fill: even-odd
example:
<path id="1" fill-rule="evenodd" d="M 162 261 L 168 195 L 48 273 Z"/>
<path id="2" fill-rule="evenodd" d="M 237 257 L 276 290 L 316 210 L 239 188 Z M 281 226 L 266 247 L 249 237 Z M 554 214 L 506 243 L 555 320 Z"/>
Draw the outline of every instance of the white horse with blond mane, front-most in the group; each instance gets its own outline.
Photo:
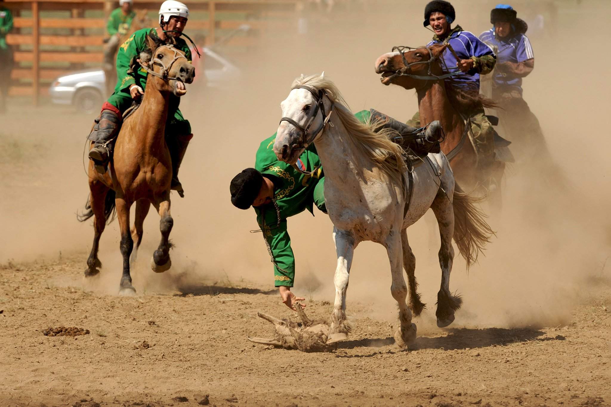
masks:
<path id="1" fill-rule="evenodd" d="M 278 159 L 293 164 L 313 142 L 324 168 L 324 198 L 334 224 L 337 251 L 335 303 L 328 342 L 348 337 L 348 277 L 354 248 L 365 240 L 380 243 L 388 253 L 392 272 L 390 292 L 399 306 L 400 328 L 395 341 L 406 347 L 415 339 L 412 312 L 418 316 L 425 304 L 416 291 L 415 257 L 406 229 L 429 208 L 433 209 L 441 234 L 437 326 L 450 325 L 462 303 L 449 287 L 454 258 L 452 237 L 469 267 L 477 261 L 492 231 L 482 212 L 474 206 L 477 200 L 462 193 L 456 185 L 445 155 L 428 154 L 421 165 L 408 171 L 403 150 L 389 139 L 390 131 L 376 133 L 372 129 L 380 123 L 360 123 L 324 73 L 295 79 L 280 107 L 283 118 L 274 143 Z M 408 274 L 409 308 L 401 262 Z"/>

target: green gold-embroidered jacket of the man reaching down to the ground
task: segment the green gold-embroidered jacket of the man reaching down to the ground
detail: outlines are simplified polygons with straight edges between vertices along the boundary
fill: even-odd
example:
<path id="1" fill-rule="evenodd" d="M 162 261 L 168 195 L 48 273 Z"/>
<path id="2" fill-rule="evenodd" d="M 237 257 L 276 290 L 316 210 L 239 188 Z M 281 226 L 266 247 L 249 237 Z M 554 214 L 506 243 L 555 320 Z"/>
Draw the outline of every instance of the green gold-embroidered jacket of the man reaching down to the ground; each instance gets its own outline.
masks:
<path id="1" fill-rule="evenodd" d="M 304 175 L 290 164 L 277 159 L 273 151 L 276 134 L 263 140 L 255 159 L 255 169 L 274 182 L 274 198 L 280 211 L 280 223 L 273 204 L 255 207 L 257 222 L 265 234 L 274 261 L 274 280 L 276 287 L 293 287 L 295 281 L 295 256 L 291 248 L 291 238 L 287 231 L 287 218 L 306 209 L 313 214 L 313 204 L 324 207 L 324 193 L 321 178 L 322 168 L 313 175 Z M 320 166 L 320 159 L 314 145 L 301 154 L 297 165 L 304 171 L 312 171 Z M 321 184 L 318 189 L 316 186 Z M 282 269 L 282 270 L 280 270 Z"/>

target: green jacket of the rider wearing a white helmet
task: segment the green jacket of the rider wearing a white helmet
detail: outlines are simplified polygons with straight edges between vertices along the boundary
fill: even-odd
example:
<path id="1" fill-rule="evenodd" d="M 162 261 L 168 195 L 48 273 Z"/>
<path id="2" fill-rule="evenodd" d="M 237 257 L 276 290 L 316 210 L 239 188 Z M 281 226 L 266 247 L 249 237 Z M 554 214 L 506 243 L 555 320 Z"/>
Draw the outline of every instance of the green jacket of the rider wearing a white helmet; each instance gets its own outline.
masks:
<path id="1" fill-rule="evenodd" d="M 139 58 L 140 53 L 147 49 L 147 34 L 157 37 L 154 28 L 143 28 L 130 35 L 117 52 L 117 85 L 114 92 L 124 92 L 129 95 L 131 85 L 139 85 L 143 90 L 147 83 L 147 72 L 139 65 L 134 65 L 134 70 L 130 69 L 131 60 Z M 191 63 L 191 51 L 186 41 L 177 38 L 176 48 L 185 52 L 185 57 Z"/>

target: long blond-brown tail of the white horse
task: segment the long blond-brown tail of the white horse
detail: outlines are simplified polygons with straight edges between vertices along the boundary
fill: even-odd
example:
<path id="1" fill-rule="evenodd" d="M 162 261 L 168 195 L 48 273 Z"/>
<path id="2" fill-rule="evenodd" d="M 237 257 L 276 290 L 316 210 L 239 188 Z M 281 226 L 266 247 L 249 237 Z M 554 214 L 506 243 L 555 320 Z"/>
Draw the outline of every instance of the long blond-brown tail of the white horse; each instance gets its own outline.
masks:
<path id="1" fill-rule="evenodd" d="M 483 253 L 484 246 L 490 242 L 494 231 L 486 223 L 486 214 L 475 206 L 485 199 L 476 198 L 463 192 L 456 184 L 452 205 L 454 207 L 454 241 L 461 256 L 467 262 L 467 270 L 477 262 L 477 256 Z"/>

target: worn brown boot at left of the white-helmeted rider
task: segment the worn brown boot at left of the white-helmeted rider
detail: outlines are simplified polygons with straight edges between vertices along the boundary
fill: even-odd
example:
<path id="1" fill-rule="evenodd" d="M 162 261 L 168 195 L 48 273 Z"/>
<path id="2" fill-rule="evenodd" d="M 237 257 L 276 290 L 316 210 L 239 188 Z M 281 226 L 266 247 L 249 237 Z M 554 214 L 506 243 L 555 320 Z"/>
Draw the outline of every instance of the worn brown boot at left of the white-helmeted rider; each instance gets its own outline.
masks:
<path id="1" fill-rule="evenodd" d="M 93 160 L 95 170 L 100 174 L 106 173 L 112 152 L 112 140 L 119 131 L 121 118 L 112 110 L 104 109 L 100 117 L 95 119 L 93 130 L 88 139 L 95 142 L 89 150 L 89 159 Z"/>

